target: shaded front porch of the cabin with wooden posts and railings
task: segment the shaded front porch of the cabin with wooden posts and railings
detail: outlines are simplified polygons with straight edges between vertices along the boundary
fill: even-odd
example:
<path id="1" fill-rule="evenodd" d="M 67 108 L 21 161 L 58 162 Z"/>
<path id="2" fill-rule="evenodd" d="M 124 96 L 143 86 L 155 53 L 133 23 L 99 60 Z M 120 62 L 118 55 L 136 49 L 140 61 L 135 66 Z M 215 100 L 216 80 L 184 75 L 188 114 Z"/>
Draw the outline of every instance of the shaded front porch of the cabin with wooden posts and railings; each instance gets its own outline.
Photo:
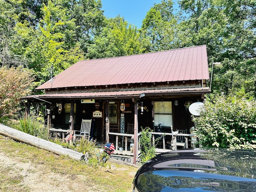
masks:
<path id="1" fill-rule="evenodd" d="M 165 93 L 154 90 L 154 94 L 148 95 L 144 92 L 126 92 L 125 96 L 115 95 L 115 99 L 102 98 L 102 93 L 101 98 L 95 93 L 89 98 L 88 94 L 82 98 L 75 94 L 38 95 L 26 97 L 26 110 L 29 111 L 33 104 L 44 102 L 48 130 L 63 140 L 68 131 L 80 130 L 82 119 L 92 119 L 90 138 L 113 143 L 114 154 L 131 158 L 134 164 L 140 161 L 140 136 L 144 128 L 151 129 L 152 143 L 162 136 L 156 146 L 157 153 L 193 147 L 191 137 L 194 135 L 189 132 L 193 124 L 186 105 L 188 101 L 192 104 L 203 100 L 205 88 L 170 89 Z M 179 96 L 181 93 L 183 96 Z M 124 109 L 121 108 L 123 104 Z M 133 125 L 130 132 L 128 124 Z M 177 133 L 178 130 L 185 132 Z M 183 140 L 178 140 L 178 137 Z"/>

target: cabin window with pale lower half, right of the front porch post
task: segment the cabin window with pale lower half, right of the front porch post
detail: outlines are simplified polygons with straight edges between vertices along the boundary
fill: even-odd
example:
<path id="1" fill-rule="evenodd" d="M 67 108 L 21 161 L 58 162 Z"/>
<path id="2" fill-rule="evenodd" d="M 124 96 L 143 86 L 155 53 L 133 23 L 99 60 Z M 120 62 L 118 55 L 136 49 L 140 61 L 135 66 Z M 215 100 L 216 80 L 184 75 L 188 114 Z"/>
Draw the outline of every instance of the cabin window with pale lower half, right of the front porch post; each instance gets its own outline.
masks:
<path id="1" fill-rule="evenodd" d="M 156 101 L 154 102 L 154 126 L 158 124 L 164 127 L 172 126 L 172 102 Z"/>

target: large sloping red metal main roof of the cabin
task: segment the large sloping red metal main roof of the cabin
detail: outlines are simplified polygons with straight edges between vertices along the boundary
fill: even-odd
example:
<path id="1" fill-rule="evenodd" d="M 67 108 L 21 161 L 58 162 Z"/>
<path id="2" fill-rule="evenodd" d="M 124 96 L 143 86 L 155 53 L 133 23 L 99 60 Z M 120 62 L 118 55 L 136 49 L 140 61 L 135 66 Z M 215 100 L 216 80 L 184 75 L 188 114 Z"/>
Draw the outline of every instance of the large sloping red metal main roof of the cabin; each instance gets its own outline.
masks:
<path id="1" fill-rule="evenodd" d="M 209 79 L 206 45 L 83 60 L 37 89 Z"/>

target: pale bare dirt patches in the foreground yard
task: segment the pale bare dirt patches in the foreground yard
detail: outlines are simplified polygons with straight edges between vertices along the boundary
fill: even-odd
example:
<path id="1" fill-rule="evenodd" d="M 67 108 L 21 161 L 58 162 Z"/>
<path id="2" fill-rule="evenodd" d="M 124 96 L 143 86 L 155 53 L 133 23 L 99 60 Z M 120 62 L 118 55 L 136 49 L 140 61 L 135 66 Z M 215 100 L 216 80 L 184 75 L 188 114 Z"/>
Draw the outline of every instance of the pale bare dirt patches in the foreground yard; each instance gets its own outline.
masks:
<path id="1" fill-rule="evenodd" d="M 113 168 L 112 168 L 113 169 Z M 126 166 L 111 170 L 102 167 L 104 172 L 122 172 L 128 170 Z M 33 164 L 29 160 L 20 157 L 8 157 L 4 152 L 0 152 L 0 171 L 8 174 L 6 186 L 0 187 L 1 191 L 9 192 L 94 192 L 108 191 L 107 189 L 97 186 L 95 183 L 88 182 L 87 176 L 58 174 L 52 172 L 46 164 Z M 129 174 L 134 176 L 136 172 Z M 13 187 L 15 180 L 21 179 L 21 183 Z M 9 186 L 8 186 L 9 185 Z M 20 186 L 20 187 L 19 187 Z M 2 189 L 1 189 L 2 188 Z M 85 190 L 86 188 L 86 190 Z"/>

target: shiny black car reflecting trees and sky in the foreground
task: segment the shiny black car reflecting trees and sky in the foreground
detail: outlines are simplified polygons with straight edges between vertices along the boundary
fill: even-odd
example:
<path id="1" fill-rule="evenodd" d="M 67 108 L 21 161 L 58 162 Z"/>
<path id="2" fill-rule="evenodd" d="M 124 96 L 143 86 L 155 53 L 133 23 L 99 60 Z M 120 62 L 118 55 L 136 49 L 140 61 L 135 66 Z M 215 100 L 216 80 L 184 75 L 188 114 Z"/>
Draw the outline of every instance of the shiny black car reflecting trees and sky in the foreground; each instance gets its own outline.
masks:
<path id="1" fill-rule="evenodd" d="M 133 192 L 256 192 L 256 150 L 166 152 L 136 173 Z"/>

